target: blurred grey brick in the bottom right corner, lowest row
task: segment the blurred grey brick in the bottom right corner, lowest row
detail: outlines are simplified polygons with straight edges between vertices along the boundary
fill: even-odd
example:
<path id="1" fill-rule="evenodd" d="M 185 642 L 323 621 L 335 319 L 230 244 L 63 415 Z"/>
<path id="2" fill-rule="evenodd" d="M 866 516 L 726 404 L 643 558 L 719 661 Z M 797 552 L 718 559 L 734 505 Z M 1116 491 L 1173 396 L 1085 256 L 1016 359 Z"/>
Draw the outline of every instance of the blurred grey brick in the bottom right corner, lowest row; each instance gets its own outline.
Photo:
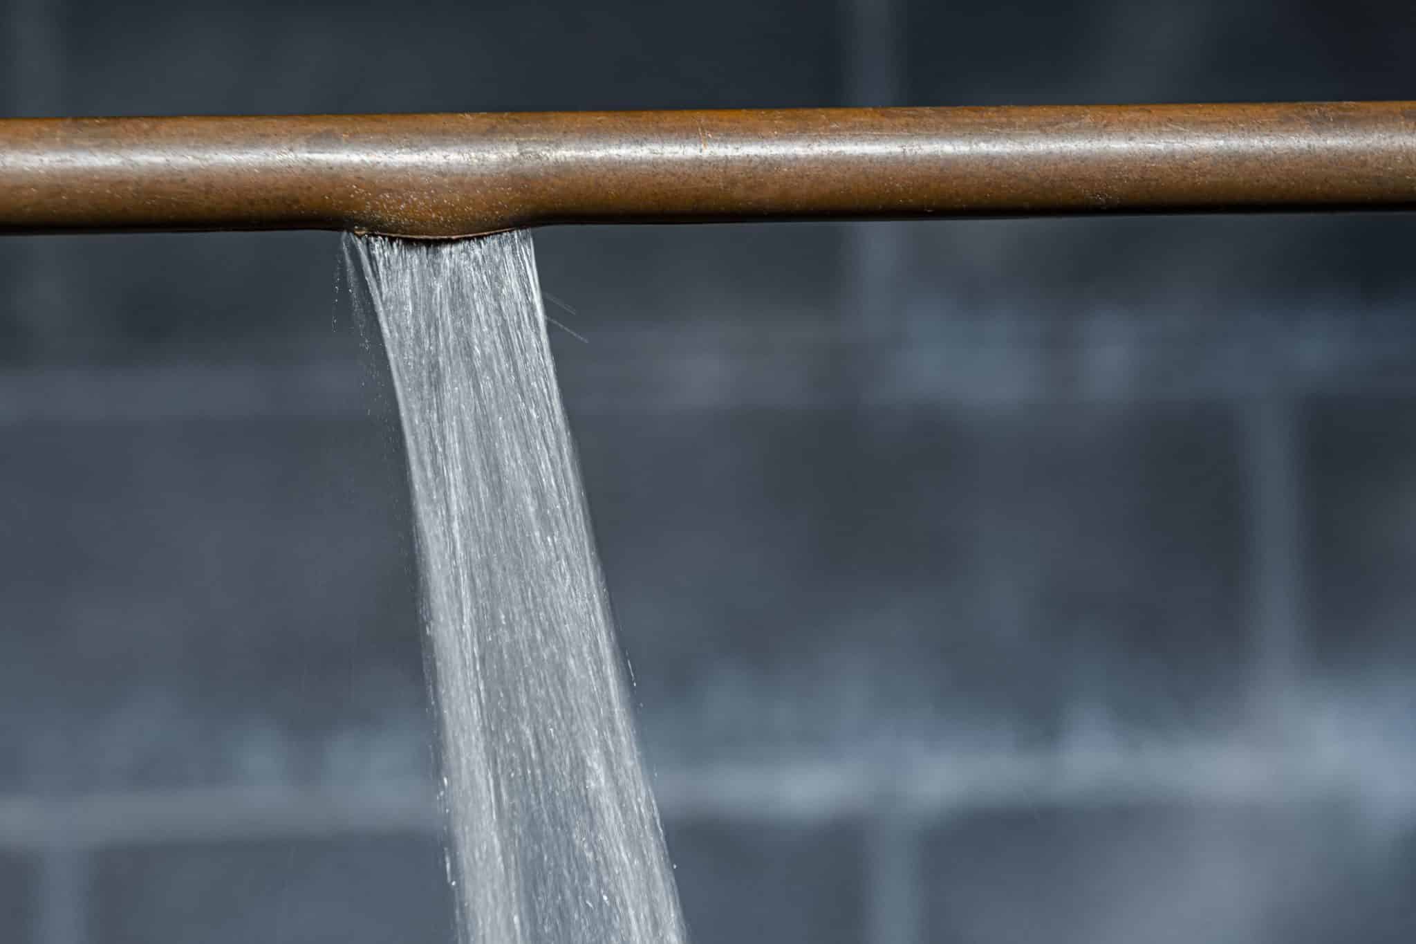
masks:
<path id="1" fill-rule="evenodd" d="M 1341 807 L 986 812 L 927 838 L 925 940 L 1409 940 L 1410 834 Z"/>

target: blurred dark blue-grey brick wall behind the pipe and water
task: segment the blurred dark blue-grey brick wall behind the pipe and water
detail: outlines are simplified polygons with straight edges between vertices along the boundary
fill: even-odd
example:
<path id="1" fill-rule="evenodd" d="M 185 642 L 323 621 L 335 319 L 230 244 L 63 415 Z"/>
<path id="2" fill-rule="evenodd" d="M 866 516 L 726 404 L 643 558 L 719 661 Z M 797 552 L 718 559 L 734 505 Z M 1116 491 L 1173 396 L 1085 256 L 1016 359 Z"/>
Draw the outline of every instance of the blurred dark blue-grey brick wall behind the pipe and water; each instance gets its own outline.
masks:
<path id="1" fill-rule="evenodd" d="M 1406 1 L 0 11 L 8 115 L 1416 79 Z M 694 940 L 1412 940 L 1413 225 L 538 234 Z M 4 941 L 452 940 L 337 248 L 0 241 Z"/>

